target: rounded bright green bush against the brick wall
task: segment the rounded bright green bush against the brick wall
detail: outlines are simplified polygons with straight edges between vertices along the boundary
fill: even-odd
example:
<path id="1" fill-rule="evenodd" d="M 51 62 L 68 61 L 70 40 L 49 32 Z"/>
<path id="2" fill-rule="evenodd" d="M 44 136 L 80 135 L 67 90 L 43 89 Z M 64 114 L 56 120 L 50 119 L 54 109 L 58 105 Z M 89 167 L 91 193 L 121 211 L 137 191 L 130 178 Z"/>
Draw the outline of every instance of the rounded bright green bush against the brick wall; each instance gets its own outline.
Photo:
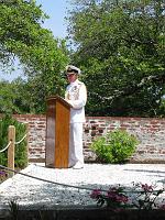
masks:
<path id="1" fill-rule="evenodd" d="M 90 145 L 101 163 L 124 163 L 135 152 L 138 139 L 123 130 L 97 138 Z"/>

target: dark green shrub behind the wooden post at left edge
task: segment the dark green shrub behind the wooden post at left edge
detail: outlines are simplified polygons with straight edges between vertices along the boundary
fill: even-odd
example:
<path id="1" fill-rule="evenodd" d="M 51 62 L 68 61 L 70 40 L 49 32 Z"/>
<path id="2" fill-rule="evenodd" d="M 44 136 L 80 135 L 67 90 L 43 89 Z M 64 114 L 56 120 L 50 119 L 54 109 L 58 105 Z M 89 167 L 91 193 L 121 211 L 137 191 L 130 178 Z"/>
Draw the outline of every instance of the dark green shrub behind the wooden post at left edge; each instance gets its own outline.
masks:
<path id="1" fill-rule="evenodd" d="M 8 145 L 8 130 L 9 125 L 15 127 L 15 142 L 20 141 L 25 132 L 25 124 L 18 122 L 11 116 L 4 116 L 0 120 L 0 150 Z M 28 152 L 26 152 L 26 140 L 15 145 L 15 167 L 23 168 L 28 165 Z M 0 164 L 7 166 L 8 164 L 8 151 L 0 153 Z"/>

